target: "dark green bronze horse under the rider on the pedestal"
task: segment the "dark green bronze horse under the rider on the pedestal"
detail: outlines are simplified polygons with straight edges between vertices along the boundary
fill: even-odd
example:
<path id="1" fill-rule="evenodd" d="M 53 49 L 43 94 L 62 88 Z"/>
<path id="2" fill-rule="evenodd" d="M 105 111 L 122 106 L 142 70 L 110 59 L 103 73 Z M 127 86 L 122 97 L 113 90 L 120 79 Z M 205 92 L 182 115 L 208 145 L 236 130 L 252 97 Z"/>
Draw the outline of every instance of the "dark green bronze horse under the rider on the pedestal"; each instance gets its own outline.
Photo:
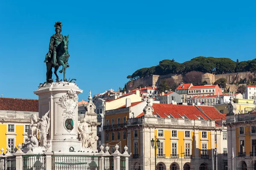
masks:
<path id="1" fill-rule="evenodd" d="M 67 67 L 69 67 L 68 65 L 68 58 L 70 57 L 70 54 L 68 54 L 68 37 L 67 36 L 62 36 L 62 42 L 61 42 L 61 47 L 57 52 L 57 62 L 58 62 L 58 66 L 54 67 L 51 57 L 51 53 L 47 53 L 46 57 L 47 57 L 47 62 L 46 62 L 46 68 L 47 68 L 47 72 L 46 72 L 46 81 L 47 82 L 53 82 L 52 80 L 52 68 L 54 67 L 54 74 L 56 76 L 56 81 L 59 81 L 59 77 L 57 75 L 57 71 L 58 68 L 62 65 L 62 70 L 60 70 L 60 73 L 64 73 L 64 81 L 67 81 L 66 79 L 66 69 Z"/>

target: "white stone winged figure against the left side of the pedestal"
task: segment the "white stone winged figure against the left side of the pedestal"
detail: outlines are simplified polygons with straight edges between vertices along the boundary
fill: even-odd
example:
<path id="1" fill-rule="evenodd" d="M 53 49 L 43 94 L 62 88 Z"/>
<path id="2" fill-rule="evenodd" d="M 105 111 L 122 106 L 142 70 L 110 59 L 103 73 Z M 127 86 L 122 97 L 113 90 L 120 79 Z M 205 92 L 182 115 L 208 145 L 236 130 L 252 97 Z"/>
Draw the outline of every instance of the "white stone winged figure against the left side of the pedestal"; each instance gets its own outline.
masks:
<path id="1" fill-rule="evenodd" d="M 49 133 L 50 119 L 48 118 L 49 111 L 42 116 L 40 122 L 38 122 L 39 128 L 39 142 L 40 146 L 44 147 L 47 145 L 47 134 Z"/>

